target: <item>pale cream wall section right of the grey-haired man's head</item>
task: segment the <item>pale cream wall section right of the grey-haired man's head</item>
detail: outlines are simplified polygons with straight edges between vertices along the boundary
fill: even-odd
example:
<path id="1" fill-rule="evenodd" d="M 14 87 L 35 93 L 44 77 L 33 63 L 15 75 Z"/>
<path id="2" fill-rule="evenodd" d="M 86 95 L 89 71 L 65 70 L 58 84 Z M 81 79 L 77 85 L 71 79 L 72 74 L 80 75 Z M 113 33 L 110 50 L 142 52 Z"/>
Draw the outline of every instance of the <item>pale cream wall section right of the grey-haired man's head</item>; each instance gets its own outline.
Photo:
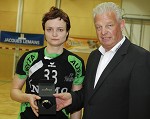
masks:
<path id="1" fill-rule="evenodd" d="M 150 51 L 150 0 L 122 0 L 126 19 L 124 34 Z"/>

